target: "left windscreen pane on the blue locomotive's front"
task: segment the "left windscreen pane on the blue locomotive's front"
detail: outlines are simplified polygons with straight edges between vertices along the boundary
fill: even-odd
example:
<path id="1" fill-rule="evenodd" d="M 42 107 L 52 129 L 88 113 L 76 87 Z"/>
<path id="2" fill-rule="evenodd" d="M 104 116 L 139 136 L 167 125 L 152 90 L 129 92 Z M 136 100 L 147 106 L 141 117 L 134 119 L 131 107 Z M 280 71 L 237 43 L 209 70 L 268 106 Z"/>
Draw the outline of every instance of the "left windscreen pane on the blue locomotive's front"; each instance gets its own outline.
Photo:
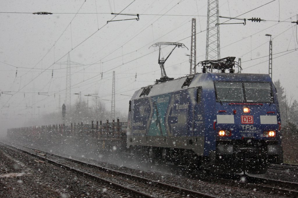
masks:
<path id="1" fill-rule="evenodd" d="M 218 102 L 243 102 L 243 88 L 241 82 L 214 82 L 216 100 Z"/>

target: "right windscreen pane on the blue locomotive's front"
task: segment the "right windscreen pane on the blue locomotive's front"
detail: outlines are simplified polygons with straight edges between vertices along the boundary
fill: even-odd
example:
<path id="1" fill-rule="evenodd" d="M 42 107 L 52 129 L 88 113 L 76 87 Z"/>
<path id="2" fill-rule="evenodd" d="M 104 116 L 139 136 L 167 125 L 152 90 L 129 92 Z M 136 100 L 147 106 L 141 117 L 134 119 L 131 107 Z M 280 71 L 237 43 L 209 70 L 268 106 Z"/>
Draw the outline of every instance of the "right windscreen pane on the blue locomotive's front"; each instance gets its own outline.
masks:
<path id="1" fill-rule="evenodd" d="M 263 102 L 272 101 L 271 84 L 269 82 L 244 82 L 244 90 L 247 102 Z"/>

